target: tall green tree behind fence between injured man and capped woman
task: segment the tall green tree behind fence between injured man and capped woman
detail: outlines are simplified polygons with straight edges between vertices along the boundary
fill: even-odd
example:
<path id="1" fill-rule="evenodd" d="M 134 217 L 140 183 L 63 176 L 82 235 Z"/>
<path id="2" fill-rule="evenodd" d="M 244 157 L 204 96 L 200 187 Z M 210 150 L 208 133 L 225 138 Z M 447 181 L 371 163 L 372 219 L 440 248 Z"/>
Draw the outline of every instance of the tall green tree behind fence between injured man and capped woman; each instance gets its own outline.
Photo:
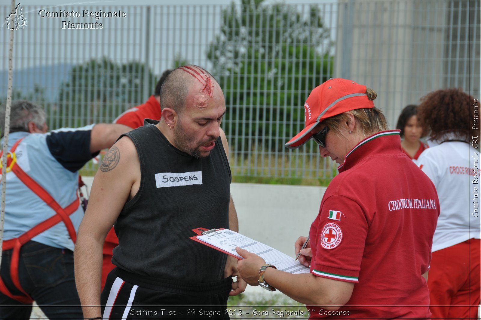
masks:
<path id="1" fill-rule="evenodd" d="M 320 8 L 311 5 L 303 13 L 294 5 L 263 2 L 232 2 L 207 52 L 229 108 L 224 128 L 228 137 L 239 136 L 233 147 L 240 152 L 284 150 L 286 139 L 304 125 L 308 94 L 332 75 Z"/>

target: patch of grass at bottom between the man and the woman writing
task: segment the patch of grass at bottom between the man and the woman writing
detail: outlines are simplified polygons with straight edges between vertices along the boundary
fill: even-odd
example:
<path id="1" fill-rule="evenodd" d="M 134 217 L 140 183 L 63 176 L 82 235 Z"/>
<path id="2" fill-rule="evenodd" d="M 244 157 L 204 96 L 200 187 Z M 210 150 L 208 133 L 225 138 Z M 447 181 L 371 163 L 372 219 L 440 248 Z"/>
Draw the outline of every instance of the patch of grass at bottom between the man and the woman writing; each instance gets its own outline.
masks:
<path id="1" fill-rule="evenodd" d="M 303 304 L 275 293 L 269 294 L 268 298 L 241 293 L 229 297 L 227 309 L 230 318 L 308 318 Z"/>

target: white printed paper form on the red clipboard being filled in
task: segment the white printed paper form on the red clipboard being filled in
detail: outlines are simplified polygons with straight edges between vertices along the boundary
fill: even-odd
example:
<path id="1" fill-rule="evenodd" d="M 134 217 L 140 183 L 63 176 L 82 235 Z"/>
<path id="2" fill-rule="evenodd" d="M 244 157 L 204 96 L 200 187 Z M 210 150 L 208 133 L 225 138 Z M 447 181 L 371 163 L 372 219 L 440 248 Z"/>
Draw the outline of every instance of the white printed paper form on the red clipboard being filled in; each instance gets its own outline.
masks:
<path id="1" fill-rule="evenodd" d="M 266 263 L 276 266 L 279 270 L 285 272 L 309 273 L 310 271 L 308 267 L 305 267 L 299 261 L 295 261 L 294 258 L 291 258 L 287 254 L 281 253 L 264 243 L 257 242 L 229 229 L 216 231 L 215 234 L 198 236 L 197 239 L 212 244 L 224 251 L 231 252 L 240 258 L 241 256 L 236 252 L 236 247 L 241 247 L 242 249 L 261 256 L 266 260 Z"/>

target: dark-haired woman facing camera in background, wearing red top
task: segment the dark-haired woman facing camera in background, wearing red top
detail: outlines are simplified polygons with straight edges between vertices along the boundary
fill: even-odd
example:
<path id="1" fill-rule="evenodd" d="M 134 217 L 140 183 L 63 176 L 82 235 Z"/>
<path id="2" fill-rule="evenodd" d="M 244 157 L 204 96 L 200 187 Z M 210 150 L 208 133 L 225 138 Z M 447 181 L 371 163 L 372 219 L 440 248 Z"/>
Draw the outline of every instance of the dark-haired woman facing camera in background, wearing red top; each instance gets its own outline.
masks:
<path id="1" fill-rule="evenodd" d="M 396 129 L 401 132 L 401 147 L 403 152 L 409 157 L 409 159 L 416 162 L 421 152 L 428 148 L 428 145 L 423 143 L 420 139 L 423 135 L 421 123 L 418 121 L 418 106 L 407 105 L 399 115 L 397 120 Z"/>

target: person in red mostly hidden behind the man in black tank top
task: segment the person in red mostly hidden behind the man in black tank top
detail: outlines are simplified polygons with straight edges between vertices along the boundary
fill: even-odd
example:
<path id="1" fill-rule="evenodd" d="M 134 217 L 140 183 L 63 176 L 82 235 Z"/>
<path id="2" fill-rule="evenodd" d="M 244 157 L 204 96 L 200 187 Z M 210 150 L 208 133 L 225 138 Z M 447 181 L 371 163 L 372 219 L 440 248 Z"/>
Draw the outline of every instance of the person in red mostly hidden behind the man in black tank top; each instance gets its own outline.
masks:
<path id="1" fill-rule="evenodd" d="M 159 79 L 159 82 L 157 82 L 157 85 L 155 86 L 154 94 L 150 96 L 149 100 L 147 100 L 143 105 L 132 107 L 127 111 L 123 112 L 114 120 L 114 123 L 123 124 L 129 126 L 132 129 L 136 129 L 144 125 L 144 119 L 160 120 L 162 116 L 160 108 L 160 88 L 162 87 L 162 83 L 164 83 L 165 78 L 167 78 L 170 72 L 172 72 L 172 70 L 170 69 L 164 71 L 164 73 Z M 101 290 L 103 290 L 107 275 L 115 267 L 112 264 L 112 251 L 116 246 L 118 246 L 118 244 L 119 240 L 115 235 L 114 228 L 112 227 L 112 229 L 110 229 L 109 233 L 107 234 L 107 237 L 105 238 L 105 242 L 103 244 Z"/>

